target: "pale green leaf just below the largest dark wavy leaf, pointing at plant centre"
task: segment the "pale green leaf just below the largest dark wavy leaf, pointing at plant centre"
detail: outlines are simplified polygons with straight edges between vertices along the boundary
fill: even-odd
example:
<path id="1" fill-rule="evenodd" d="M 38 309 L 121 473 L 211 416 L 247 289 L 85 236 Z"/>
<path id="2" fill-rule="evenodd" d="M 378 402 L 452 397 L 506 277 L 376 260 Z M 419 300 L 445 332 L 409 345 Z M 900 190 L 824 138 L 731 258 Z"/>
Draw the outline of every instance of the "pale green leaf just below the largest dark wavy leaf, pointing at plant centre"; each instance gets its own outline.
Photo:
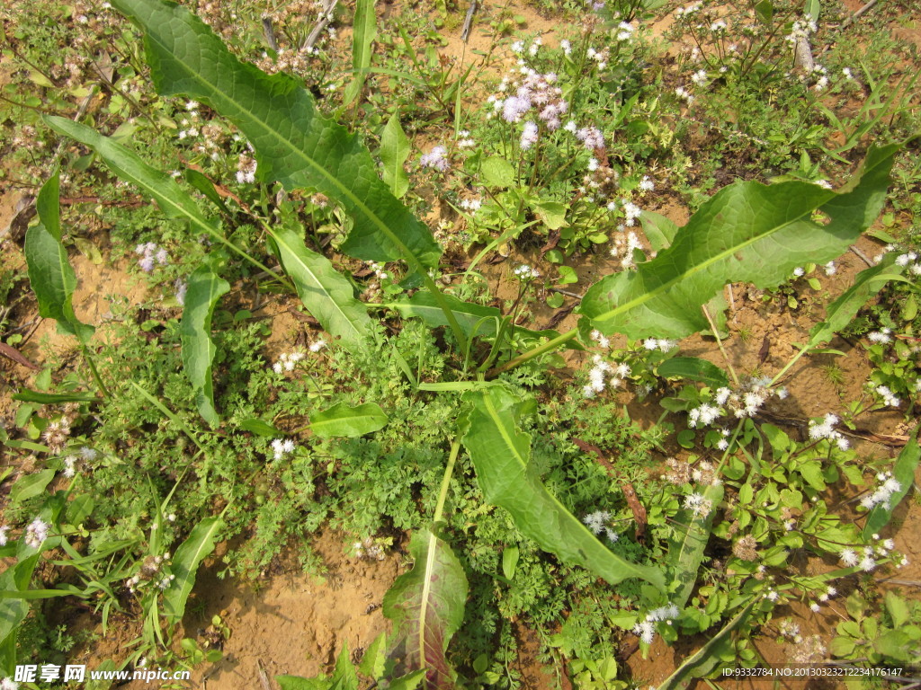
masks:
<path id="1" fill-rule="evenodd" d="M 323 328 L 339 336 L 350 350 L 364 346 L 371 319 L 367 309 L 355 298 L 352 284 L 332 268 L 330 260 L 304 246 L 293 230 L 272 231 L 278 255 L 295 289 L 310 314 Z"/>

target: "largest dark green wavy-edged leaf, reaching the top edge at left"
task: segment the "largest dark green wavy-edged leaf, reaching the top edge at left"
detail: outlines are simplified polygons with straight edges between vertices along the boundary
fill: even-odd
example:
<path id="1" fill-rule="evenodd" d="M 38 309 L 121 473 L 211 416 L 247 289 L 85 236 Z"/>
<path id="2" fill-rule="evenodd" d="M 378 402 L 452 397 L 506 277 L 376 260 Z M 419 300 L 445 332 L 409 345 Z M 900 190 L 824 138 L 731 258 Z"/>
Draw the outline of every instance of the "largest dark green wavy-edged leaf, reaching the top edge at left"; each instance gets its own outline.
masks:
<path id="1" fill-rule="evenodd" d="M 184 94 L 233 122 L 255 148 L 260 178 L 288 189 L 314 188 L 343 206 L 355 219 L 344 252 L 374 261 L 407 259 L 414 270 L 437 263 L 437 242 L 378 177 L 364 144 L 322 118 L 297 80 L 240 63 L 184 7 L 161 0 L 112 5 L 144 30 L 160 94 Z"/>

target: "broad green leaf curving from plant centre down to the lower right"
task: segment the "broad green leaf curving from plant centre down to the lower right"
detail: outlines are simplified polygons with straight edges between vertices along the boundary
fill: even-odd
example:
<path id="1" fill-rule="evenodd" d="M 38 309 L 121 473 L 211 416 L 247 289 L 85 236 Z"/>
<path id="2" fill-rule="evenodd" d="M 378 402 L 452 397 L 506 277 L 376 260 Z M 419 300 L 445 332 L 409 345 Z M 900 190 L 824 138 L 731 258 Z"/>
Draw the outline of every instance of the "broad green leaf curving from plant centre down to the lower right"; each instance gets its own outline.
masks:
<path id="1" fill-rule="evenodd" d="M 471 406 L 463 443 L 484 497 L 507 510 L 521 534 L 612 584 L 640 578 L 664 591 L 661 570 L 612 553 L 544 488 L 529 466 L 530 435 L 518 430 L 521 400 L 499 386 L 471 391 L 463 399 Z"/>

